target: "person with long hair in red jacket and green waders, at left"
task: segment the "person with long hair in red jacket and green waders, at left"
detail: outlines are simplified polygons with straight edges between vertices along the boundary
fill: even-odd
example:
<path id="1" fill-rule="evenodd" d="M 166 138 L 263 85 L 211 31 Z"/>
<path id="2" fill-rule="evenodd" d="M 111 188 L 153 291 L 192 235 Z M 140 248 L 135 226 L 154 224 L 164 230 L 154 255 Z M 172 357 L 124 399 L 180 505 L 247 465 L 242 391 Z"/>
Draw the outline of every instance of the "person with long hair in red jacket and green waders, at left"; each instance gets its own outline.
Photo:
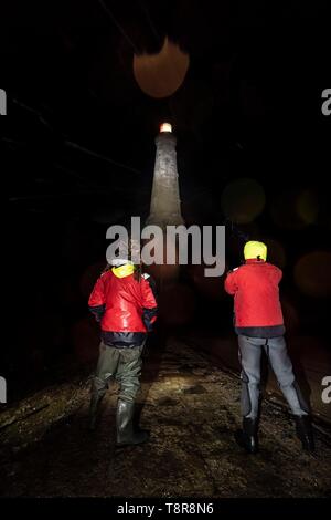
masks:
<path id="1" fill-rule="evenodd" d="M 97 408 L 108 382 L 119 383 L 116 413 L 117 445 L 137 445 L 148 440 L 145 430 L 135 431 L 135 399 L 140 388 L 141 353 L 157 319 L 153 283 L 140 267 L 115 259 L 113 267 L 97 280 L 88 300 L 89 310 L 100 323 L 102 342 L 92 386 L 90 429 L 95 428 Z"/>

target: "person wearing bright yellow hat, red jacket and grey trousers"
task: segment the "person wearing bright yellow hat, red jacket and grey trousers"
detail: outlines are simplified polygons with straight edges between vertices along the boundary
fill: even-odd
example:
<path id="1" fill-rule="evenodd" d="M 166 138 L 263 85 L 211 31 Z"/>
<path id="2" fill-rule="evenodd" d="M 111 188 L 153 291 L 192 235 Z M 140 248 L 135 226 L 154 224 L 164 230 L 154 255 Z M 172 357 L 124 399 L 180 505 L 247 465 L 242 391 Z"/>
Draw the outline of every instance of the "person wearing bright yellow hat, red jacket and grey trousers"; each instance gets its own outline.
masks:
<path id="1" fill-rule="evenodd" d="M 236 441 L 248 453 L 258 450 L 260 360 L 265 350 L 293 414 L 302 447 L 312 450 L 309 408 L 296 382 L 284 339 L 278 290 L 282 272 L 266 261 L 267 247 L 263 242 L 246 242 L 244 257 L 245 263 L 229 271 L 225 279 L 225 290 L 234 297 L 235 332 L 242 364 L 243 429 L 236 431 Z"/>

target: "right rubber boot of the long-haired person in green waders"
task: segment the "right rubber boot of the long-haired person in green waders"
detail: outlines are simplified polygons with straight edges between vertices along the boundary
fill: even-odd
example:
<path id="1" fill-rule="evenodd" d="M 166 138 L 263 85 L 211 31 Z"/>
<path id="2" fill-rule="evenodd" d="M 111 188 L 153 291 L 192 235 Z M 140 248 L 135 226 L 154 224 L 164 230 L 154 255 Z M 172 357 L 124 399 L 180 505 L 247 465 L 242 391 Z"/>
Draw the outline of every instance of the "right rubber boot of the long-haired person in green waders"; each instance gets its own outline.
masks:
<path id="1" fill-rule="evenodd" d="M 116 413 L 116 446 L 129 446 L 146 443 L 149 439 L 149 431 L 134 430 L 135 403 L 118 401 Z"/>

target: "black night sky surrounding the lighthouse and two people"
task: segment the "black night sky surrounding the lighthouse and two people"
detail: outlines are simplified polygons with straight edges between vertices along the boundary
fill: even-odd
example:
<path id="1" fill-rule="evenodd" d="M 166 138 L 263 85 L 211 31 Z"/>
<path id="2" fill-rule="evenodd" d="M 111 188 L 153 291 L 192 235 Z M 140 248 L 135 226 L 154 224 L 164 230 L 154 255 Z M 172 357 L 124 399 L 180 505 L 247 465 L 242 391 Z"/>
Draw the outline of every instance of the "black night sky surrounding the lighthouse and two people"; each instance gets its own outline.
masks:
<path id="1" fill-rule="evenodd" d="M 241 261 L 243 236 L 276 241 L 278 252 L 270 248 L 270 256 L 285 270 L 285 295 L 298 327 L 316 336 L 325 332 L 327 3 L 1 2 L 8 306 L 15 310 L 11 349 L 24 352 L 23 363 L 42 372 L 54 353 L 73 351 L 75 331 L 87 320 L 90 280 L 105 262 L 107 227 L 148 216 L 154 137 L 163 121 L 178 138 L 186 221 L 226 222 L 229 267 Z M 172 95 L 153 98 L 136 82 L 132 59 L 159 52 L 166 35 L 189 54 L 190 65 Z M 243 178 L 253 179 L 247 189 Z M 265 204 L 249 218 L 260 187 Z M 238 207 L 246 208 L 244 217 Z M 295 275 L 307 253 L 318 256 Z M 231 308 L 214 299 L 215 291 L 193 285 L 195 312 L 205 302 L 212 315 L 217 305 Z M 224 320 L 231 330 L 232 316 Z M 10 353 L 6 363 L 19 371 Z"/>

